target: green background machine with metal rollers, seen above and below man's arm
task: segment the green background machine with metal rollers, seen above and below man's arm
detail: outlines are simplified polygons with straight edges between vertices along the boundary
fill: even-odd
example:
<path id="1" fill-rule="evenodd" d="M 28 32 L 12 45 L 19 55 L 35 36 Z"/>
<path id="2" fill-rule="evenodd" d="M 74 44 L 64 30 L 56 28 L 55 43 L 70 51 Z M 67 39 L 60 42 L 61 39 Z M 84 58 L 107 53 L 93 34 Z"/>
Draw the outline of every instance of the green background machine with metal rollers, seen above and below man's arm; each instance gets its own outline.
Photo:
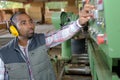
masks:
<path id="1" fill-rule="evenodd" d="M 62 29 L 62 26 L 67 25 L 78 19 L 78 15 L 72 12 L 54 12 L 52 14 L 52 23 L 57 29 Z M 90 67 L 88 61 L 88 54 L 86 53 L 86 39 L 80 38 L 79 35 L 84 34 L 80 31 L 73 38 L 61 44 L 61 60 L 62 70 L 58 80 L 64 80 L 62 77 L 67 75 L 81 74 L 89 75 Z M 60 66 L 59 66 L 60 69 Z M 81 79 L 81 78 L 79 78 Z M 75 79 L 75 80 L 79 80 Z"/>

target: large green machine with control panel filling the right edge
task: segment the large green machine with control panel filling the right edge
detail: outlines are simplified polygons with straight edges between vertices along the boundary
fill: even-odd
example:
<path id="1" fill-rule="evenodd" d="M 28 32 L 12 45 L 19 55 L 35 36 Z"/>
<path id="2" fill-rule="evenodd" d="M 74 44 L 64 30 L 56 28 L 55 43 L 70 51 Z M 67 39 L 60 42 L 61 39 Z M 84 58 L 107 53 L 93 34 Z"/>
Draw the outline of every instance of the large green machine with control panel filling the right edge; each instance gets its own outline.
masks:
<path id="1" fill-rule="evenodd" d="M 93 80 L 120 80 L 120 0 L 91 0 L 88 54 Z"/>

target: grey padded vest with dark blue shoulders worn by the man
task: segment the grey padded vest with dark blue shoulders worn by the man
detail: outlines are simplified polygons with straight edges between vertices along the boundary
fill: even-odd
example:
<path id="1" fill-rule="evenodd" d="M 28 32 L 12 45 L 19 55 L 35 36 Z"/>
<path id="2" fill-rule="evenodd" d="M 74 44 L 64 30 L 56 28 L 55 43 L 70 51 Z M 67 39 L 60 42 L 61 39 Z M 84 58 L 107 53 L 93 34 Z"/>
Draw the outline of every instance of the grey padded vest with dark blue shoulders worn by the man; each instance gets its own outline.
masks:
<path id="1" fill-rule="evenodd" d="M 44 34 L 34 34 L 28 46 L 28 55 L 35 80 L 56 80 L 55 73 L 47 54 Z M 0 49 L 9 80 L 29 80 L 25 57 L 18 46 L 17 38 Z"/>

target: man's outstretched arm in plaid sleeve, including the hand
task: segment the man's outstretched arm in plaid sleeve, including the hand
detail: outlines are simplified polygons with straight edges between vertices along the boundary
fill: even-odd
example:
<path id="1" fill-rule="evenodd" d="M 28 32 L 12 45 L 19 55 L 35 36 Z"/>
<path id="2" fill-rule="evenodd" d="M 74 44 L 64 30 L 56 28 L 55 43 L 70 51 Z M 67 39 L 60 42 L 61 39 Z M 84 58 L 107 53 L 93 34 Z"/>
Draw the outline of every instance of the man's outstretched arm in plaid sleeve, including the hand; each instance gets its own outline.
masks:
<path id="1" fill-rule="evenodd" d="M 90 13 L 92 9 L 94 9 L 93 5 L 85 4 L 84 8 L 79 12 L 79 19 L 77 21 L 64 26 L 62 30 L 51 35 L 46 35 L 47 47 L 56 46 L 75 35 L 82 27 L 84 27 L 89 19 L 93 17 L 93 14 Z"/>

